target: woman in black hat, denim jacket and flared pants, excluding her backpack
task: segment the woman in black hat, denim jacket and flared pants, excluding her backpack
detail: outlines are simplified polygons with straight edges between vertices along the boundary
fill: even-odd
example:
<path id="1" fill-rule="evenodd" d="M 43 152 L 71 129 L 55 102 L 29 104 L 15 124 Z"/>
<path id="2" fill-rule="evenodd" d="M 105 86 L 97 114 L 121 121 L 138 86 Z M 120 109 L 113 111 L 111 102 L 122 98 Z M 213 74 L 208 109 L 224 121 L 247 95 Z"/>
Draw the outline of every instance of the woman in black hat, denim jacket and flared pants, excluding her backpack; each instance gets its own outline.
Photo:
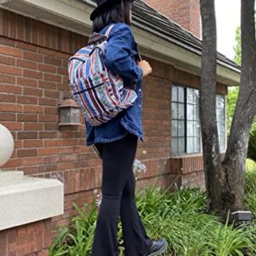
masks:
<path id="1" fill-rule="evenodd" d="M 117 256 L 119 216 L 123 227 L 126 256 L 148 256 L 162 253 L 164 239 L 152 241 L 137 212 L 135 177 L 132 170 L 137 138 L 143 142 L 142 80 L 152 72 L 147 61 L 139 61 L 137 44 L 131 32 L 131 1 L 97 0 L 90 15 L 93 32 L 108 35 L 104 61 L 108 69 L 120 75 L 125 86 L 136 85 L 137 101 L 113 119 L 100 126 L 86 123 L 86 145 L 93 147 L 103 161 L 102 203 L 96 223 L 92 256 Z"/>

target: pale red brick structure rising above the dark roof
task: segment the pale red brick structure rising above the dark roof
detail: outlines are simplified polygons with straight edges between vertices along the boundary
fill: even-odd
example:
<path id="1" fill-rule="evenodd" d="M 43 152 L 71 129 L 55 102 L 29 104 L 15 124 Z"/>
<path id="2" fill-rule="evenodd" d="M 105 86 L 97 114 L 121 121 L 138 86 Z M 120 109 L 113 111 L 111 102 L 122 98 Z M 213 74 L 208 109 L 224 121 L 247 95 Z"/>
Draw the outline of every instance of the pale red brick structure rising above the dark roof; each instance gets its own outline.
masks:
<path id="1" fill-rule="evenodd" d="M 201 38 L 201 11 L 199 0 L 145 0 L 160 13 Z"/>

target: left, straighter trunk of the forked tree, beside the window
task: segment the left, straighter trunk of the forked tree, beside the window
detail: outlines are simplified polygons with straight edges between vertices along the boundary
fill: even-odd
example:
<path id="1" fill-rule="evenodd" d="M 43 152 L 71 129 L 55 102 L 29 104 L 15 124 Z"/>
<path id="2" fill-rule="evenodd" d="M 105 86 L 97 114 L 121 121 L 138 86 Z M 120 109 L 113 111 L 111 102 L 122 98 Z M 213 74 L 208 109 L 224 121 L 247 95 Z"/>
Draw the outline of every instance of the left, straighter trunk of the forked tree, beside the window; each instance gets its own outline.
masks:
<path id="1" fill-rule="evenodd" d="M 202 57 L 200 112 L 208 210 L 219 214 L 224 175 L 216 120 L 217 35 L 214 0 L 201 0 Z"/>

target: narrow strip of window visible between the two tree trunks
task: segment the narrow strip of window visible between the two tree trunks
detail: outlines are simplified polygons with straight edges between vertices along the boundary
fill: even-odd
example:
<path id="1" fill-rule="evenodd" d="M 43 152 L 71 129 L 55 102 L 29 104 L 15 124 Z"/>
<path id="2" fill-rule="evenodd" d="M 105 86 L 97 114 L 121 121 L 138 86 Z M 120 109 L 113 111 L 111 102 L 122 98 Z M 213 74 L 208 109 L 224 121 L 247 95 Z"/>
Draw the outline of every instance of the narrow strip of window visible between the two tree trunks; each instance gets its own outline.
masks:
<path id="1" fill-rule="evenodd" d="M 225 97 L 221 95 L 217 95 L 216 97 L 216 117 L 218 126 L 219 149 L 224 150 L 226 148 Z"/>

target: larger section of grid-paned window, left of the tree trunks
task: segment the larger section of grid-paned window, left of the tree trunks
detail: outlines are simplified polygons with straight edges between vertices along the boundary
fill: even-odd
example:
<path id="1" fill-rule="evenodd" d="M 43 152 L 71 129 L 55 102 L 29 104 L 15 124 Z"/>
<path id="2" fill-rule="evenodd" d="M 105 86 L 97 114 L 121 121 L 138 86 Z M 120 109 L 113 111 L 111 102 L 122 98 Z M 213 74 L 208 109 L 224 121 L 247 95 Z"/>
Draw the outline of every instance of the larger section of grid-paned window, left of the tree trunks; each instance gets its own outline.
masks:
<path id="1" fill-rule="evenodd" d="M 199 90 L 172 86 L 172 153 L 201 152 Z"/>

